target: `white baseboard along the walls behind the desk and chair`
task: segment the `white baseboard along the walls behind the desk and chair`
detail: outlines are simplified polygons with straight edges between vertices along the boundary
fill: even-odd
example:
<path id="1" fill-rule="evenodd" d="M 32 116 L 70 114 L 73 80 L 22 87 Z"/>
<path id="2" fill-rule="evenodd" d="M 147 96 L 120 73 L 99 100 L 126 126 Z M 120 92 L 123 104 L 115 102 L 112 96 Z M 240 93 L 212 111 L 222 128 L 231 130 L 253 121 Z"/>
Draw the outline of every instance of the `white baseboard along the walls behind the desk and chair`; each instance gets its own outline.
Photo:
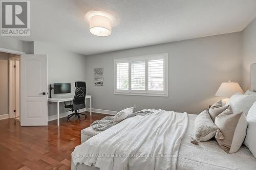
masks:
<path id="1" fill-rule="evenodd" d="M 84 109 L 80 109 L 79 112 L 85 112 L 88 111 L 90 112 L 90 108 L 84 108 Z M 109 115 L 116 115 L 116 111 L 111 111 L 111 110 L 103 110 L 103 109 L 94 109 L 92 108 L 92 112 L 94 113 L 101 113 L 101 114 L 109 114 Z M 59 114 L 59 118 L 63 118 L 63 117 L 67 117 L 69 114 L 74 113 L 74 112 L 65 112 L 65 113 L 60 113 Z M 8 114 L 7 114 L 8 115 Z M 1 116 L 1 115 L 0 115 Z M 9 117 L 8 117 L 9 118 Z M 1 118 L 0 118 L 1 119 Z M 48 122 L 52 121 L 52 120 L 56 120 L 57 119 L 57 114 L 48 116 Z"/>

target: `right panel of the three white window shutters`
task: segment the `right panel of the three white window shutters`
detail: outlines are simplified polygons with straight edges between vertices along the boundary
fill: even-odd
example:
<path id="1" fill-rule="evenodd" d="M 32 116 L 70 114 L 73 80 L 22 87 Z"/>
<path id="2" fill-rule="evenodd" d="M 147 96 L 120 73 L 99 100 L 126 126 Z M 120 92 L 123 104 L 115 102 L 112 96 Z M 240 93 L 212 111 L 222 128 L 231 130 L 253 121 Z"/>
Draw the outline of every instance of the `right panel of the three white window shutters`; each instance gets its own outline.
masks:
<path id="1" fill-rule="evenodd" d="M 148 61 L 148 90 L 164 90 L 163 59 Z"/>

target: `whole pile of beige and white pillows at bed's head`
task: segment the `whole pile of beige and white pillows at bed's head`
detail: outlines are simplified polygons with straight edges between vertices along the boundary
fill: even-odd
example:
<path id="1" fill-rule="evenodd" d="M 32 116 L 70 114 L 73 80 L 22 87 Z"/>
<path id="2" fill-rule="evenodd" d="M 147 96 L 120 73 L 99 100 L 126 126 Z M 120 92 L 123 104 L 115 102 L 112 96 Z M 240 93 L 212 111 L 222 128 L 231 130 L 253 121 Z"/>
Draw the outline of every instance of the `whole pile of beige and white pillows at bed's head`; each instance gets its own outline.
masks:
<path id="1" fill-rule="evenodd" d="M 234 94 L 226 105 L 220 100 L 197 116 L 195 140 L 214 136 L 225 152 L 237 152 L 244 142 L 256 157 L 256 92 Z"/>

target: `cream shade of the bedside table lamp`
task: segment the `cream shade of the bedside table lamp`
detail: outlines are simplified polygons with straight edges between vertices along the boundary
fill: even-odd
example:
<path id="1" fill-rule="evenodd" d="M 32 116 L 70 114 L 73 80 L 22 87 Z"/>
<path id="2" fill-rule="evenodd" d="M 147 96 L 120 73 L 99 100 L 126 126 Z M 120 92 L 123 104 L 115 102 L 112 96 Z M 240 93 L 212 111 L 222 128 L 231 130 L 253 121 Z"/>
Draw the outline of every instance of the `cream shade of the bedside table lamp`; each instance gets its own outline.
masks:
<path id="1" fill-rule="evenodd" d="M 215 95 L 223 98 L 230 98 L 233 94 L 236 94 L 237 92 L 244 93 L 244 91 L 237 82 L 224 82 L 221 83 L 221 86 L 219 87 Z"/>

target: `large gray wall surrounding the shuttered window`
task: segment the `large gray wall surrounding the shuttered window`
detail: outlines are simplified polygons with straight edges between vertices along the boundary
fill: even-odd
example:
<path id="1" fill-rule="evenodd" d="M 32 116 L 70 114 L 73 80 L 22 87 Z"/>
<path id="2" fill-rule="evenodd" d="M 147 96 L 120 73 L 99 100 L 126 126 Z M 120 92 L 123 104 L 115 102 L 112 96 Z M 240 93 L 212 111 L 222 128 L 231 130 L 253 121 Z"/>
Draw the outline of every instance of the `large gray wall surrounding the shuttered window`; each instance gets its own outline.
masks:
<path id="1" fill-rule="evenodd" d="M 241 83 L 241 32 L 87 56 L 88 93 L 96 109 L 145 108 L 198 114 L 218 100 L 221 82 Z M 168 53 L 168 97 L 114 95 L 114 59 Z M 94 86 L 94 68 L 104 68 L 104 86 Z"/>

